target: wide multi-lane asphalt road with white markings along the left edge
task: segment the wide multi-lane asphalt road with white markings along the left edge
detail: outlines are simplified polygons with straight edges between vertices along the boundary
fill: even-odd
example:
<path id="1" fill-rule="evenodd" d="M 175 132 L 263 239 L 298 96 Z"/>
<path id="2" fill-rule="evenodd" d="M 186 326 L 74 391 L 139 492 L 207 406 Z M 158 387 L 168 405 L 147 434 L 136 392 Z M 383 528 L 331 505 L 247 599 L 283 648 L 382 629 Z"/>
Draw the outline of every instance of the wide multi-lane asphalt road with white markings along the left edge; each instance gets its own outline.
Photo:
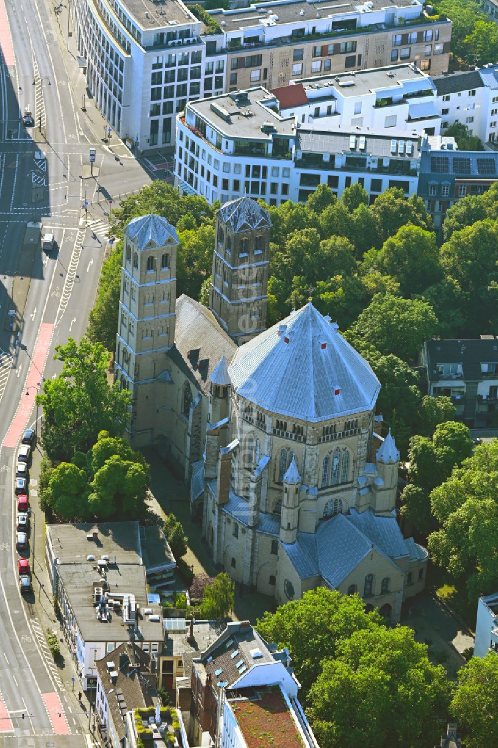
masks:
<path id="1" fill-rule="evenodd" d="M 0 746 L 14 742 L 19 746 L 45 746 L 46 736 L 51 735 L 50 741 L 55 747 L 70 744 L 78 748 L 86 745 L 82 735 L 84 723 L 78 722 L 79 735 L 74 726 L 73 735 L 54 735 L 64 732 L 64 725 L 61 726 L 55 714 L 57 707 L 53 703 L 57 700 L 52 703 L 43 695 L 57 694 L 62 711 L 70 710 L 70 706 L 64 699 L 64 686 L 41 651 L 34 605 L 29 598 L 21 598 L 19 592 L 14 456 L 22 428 L 34 423 L 31 402 L 38 384 L 58 373 L 59 365 L 53 361 L 55 346 L 66 343 L 70 336 L 78 340 L 87 325 L 107 245 L 109 204 L 98 188 L 102 186 L 102 194 L 107 196 L 123 192 L 125 172 L 129 191 L 150 182 L 150 178 L 135 159 L 114 156 L 99 140 L 99 134 L 93 132 L 92 123 L 79 111 L 79 93 L 72 88 L 75 62 L 65 49 L 52 4 L 43 0 L 0 0 L 0 10 L 4 2 L 13 58 L 8 52 L 8 31 L 2 31 Z M 34 114 L 34 128 L 22 126 L 20 117 L 25 106 Z M 90 148 L 96 150 L 98 177 L 87 175 Z M 46 159 L 35 159 L 37 151 L 45 153 Z M 88 203 L 86 213 L 85 201 Z M 20 278 L 18 269 L 22 267 L 21 253 L 28 221 L 41 223 L 43 230 L 55 233 L 56 250 L 47 255 L 38 248 L 35 253 L 17 336 L 5 328 L 4 321 L 7 310 L 13 306 L 13 280 L 16 278 L 17 282 Z M 31 398 L 26 400 L 28 387 Z M 30 549 L 25 555 L 29 552 Z M 34 594 L 37 594 L 36 589 Z M 73 720 L 70 723 L 73 725 Z"/>

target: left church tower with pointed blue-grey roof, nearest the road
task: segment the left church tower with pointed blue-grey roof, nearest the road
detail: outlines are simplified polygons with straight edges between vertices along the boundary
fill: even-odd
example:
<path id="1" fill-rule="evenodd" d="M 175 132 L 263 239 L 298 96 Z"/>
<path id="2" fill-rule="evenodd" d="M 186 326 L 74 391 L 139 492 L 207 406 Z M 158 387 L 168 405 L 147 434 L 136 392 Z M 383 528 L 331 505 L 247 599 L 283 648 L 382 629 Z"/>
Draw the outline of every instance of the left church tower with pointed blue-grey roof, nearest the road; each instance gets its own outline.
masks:
<path id="1" fill-rule="evenodd" d="M 129 438 L 153 439 L 156 377 L 175 340 L 176 229 L 160 215 L 143 215 L 124 230 L 114 381 L 133 396 Z"/>

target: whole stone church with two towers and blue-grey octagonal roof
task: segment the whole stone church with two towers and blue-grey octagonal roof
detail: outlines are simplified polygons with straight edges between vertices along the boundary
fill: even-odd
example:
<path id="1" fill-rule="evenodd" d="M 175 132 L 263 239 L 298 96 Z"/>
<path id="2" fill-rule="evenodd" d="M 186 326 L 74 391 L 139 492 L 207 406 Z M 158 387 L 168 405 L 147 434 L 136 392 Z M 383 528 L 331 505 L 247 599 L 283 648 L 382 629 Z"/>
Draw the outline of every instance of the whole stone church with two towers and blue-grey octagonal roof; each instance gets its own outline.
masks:
<path id="1" fill-rule="evenodd" d="M 396 521 L 381 385 L 311 303 L 265 329 L 270 230 L 248 197 L 218 211 L 207 309 L 176 299 L 165 218 L 129 222 L 114 370 L 129 437 L 176 462 L 215 564 L 246 589 L 282 604 L 327 586 L 396 622 L 428 553 Z"/>

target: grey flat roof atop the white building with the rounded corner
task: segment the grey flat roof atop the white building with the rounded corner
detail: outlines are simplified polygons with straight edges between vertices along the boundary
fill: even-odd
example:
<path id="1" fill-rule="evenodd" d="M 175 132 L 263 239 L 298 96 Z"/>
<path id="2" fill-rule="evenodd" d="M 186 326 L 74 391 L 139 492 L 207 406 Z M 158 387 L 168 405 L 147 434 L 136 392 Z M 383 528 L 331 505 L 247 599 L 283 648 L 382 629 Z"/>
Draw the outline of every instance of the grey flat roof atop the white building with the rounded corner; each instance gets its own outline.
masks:
<path id="1" fill-rule="evenodd" d="M 272 135 L 295 135 L 294 117 L 280 117 L 263 101 L 274 102 L 277 106 L 275 96 L 259 86 L 189 102 L 187 108 L 231 138 L 271 141 Z M 262 132 L 265 123 L 271 123 L 274 132 Z"/>

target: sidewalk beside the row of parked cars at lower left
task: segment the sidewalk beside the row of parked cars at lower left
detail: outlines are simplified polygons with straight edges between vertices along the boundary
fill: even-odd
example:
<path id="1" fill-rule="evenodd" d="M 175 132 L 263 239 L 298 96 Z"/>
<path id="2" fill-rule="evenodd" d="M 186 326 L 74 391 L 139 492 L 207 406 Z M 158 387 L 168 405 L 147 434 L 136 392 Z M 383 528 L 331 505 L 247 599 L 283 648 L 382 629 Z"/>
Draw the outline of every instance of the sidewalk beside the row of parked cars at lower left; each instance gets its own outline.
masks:
<path id="1" fill-rule="evenodd" d="M 43 636 L 46 636 L 47 628 L 53 629 L 58 635 L 62 657 L 58 663 L 54 663 L 52 657 L 47 656 L 46 662 L 58 685 L 58 695 L 67 714 L 71 732 L 76 732 L 77 729 L 80 734 L 83 734 L 89 732 L 88 713 L 90 705 L 76 675 L 76 663 L 67 649 L 61 625 L 55 617 L 52 583 L 45 564 L 45 516 L 38 506 L 37 491 L 41 459 L 41 449 L 37 445 L 32 453 L 29 481 L 29 504 L 31 506 L 30 564 L 33 574 L 34 610 L 36 611 L 37 621 L 43 630 Z M 31 614 L 31 618 L 33 617 Z M 42 631 L 35 626 L 33 626 L 33 629 L 39 643 L 43 642 Z M 73 678 L 75 678 L 74 681 Z M 64 690 L 61 690 L 58 681 L 61 681 Z M 79 692 L 82 693 L 81 702 L 78 701 Z"/>

